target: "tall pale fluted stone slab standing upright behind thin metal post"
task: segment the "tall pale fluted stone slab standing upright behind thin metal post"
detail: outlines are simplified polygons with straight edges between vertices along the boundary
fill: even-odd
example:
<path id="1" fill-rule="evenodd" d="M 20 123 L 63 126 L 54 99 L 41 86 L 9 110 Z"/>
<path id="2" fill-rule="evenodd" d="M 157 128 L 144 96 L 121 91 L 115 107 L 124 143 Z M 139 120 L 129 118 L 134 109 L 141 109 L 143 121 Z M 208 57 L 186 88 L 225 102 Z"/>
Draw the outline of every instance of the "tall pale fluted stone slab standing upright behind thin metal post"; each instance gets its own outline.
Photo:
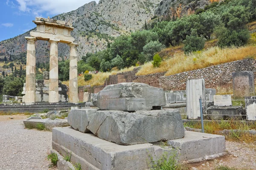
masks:
<path id="1" fill-rule="evenodd" d="M 186 81 L 186 107 L 189 119 L 201 117 L 200 102 L 202 99 L 203 114 L 206 113 L 204 79 L 189 79 Z"/>

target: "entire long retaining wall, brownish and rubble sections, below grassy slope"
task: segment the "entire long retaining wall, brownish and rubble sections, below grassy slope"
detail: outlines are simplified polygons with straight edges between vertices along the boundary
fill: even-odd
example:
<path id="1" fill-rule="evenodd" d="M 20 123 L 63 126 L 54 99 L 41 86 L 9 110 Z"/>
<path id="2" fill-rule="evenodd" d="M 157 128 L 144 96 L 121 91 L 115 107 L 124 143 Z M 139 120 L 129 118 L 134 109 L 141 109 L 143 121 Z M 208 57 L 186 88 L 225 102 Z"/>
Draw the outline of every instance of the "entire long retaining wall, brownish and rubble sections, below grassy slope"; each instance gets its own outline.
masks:
<path id="1" fill-rule="evenodd" d="M 111 75 L 105 81 L 104 85 L 99 86 L 81 86 L 79 87 L 79 101 L 83 101 L 84 89 L 89 93 L 98 93 L 107 85 L 118 84 L 121 82 L 142 82 L 164 90 L 185 90 L 186 80 L 205 79 L 206 88 L 216 88 L 217 86 L 232 85 L 232 72 L 253 71 L 256 77 L 256 60 L 244 59 L 234 62 L 227 62 L 221 65 L 214 65 L 193 71 L 187 71 L 171 76 L 164 76 L 166 72 L 136 76 L 140 68 L 134 68 L 133 71 L 122 72 Z"/>

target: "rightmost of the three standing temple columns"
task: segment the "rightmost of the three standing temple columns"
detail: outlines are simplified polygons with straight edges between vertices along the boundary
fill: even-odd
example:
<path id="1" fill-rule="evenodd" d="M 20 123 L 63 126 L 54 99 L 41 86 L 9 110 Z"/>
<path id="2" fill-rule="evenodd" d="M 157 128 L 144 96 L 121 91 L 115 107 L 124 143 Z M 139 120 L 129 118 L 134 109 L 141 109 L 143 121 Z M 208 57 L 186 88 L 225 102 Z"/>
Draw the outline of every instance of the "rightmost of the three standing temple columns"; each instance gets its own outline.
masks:
<path id="1" fill-rule="evenodd" d="M 78 99 L 78 83 L 77 83 L 77 44 L 70 43 L 70 87 L 69 87 L 69 102 L 77 103 Z"/>

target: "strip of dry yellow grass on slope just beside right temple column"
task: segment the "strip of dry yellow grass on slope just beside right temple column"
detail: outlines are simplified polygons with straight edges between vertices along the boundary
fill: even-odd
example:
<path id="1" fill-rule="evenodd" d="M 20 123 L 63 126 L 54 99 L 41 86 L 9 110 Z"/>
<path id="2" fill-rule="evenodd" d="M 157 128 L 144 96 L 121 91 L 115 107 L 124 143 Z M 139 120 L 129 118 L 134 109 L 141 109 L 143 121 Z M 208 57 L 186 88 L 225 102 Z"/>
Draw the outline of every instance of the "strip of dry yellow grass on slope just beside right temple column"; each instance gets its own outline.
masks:
<path id="1" fill-rule="evenodd" d="M 105 72 L 105 73 L 98 73 L 98 74 L 93 74 L 93 78 L 90 79 L 89 81 L 84 81 L 83 76 L 78 77 L 78 86 L 84 86 L 84 85 L 90 85 L 90 86 L 96 86 L 96 85 L 104 85 L 105 80 L 110 76 L 110 75 L 116 75 L 117 73 L 122 73 L 126 71 L 132 71 L 135 67 L 129 67 L 129 68 L 124 68 L 119 71 L 111 71 L 111 72 Z M 69 81 L 64 81 L 62 84 L 69 86 Z"/>

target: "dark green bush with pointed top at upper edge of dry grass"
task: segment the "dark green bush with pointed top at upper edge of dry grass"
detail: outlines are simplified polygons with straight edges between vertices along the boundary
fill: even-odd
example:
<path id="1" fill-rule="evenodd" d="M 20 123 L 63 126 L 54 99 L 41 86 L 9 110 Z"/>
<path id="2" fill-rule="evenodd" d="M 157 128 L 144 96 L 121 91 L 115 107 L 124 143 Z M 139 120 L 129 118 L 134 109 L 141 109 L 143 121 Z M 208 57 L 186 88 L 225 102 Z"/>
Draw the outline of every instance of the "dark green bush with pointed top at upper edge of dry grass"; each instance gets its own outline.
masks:
<path id="1" fill-rule="evenodd" d="M 185 46 L 183 47 L 184 52 L 190 53 L 192 51 L 200 51 L 204 48 L 204 38 L 198 37 L 197 31 L 195 29 L 192 30 L 190 36 L 186 36 L 186 40 L 183 41 Z"/>

